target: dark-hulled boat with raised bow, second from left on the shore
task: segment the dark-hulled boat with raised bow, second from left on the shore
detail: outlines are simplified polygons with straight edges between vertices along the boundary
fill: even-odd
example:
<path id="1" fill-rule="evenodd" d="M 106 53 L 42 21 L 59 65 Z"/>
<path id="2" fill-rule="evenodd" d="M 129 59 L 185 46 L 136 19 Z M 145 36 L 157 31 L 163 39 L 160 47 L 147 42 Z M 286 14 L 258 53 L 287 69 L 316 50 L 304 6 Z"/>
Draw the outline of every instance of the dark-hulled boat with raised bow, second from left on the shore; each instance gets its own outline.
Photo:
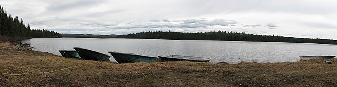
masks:
<path id="1" fill-rule="evenodd" d="M 74 47 L 74 49 L 77 51 L 78 55 L 80 56 L 80 58 L 83 59 L 87 59 L 87 60 L 109 60 L 110 56 L 100 53 L 100 52 L 96 52 L 96 51 L 92 51 L 92 50 L 88 50 L 88 49 L 83 49 L 83 48 L 79 48 L 79 47 Z"/>

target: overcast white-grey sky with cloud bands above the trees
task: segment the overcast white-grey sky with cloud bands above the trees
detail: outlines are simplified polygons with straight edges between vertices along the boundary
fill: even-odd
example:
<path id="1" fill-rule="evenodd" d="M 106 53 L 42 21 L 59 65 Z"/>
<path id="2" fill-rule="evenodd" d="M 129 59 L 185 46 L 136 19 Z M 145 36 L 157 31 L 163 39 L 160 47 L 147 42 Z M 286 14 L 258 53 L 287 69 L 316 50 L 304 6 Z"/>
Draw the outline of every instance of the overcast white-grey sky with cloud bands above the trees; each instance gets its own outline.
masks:
<path id="1" fill-rule="evenodd" d="M 337 40 L 337 0 L 0 0 L 32 29 L 60 33 L 237 31 Z"/>

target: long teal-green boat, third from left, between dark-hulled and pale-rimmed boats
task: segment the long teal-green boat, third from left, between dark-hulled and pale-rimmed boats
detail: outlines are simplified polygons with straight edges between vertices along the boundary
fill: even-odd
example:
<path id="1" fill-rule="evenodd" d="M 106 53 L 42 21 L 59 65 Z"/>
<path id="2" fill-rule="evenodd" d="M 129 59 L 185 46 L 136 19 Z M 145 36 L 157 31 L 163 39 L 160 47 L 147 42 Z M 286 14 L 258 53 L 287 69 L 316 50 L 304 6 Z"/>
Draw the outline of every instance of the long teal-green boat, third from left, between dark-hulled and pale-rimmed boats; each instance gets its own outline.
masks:
<path id="1" fill-rule="evenodd" d="M 158 57 L 150 57 L 150 56 L 142 56 L 132 53 L 121 53 L 121 52 L 109 52 L 112 57 L 118 63 L 134 63 L 134 62 L 161 62 L 161 58 Z"/>

